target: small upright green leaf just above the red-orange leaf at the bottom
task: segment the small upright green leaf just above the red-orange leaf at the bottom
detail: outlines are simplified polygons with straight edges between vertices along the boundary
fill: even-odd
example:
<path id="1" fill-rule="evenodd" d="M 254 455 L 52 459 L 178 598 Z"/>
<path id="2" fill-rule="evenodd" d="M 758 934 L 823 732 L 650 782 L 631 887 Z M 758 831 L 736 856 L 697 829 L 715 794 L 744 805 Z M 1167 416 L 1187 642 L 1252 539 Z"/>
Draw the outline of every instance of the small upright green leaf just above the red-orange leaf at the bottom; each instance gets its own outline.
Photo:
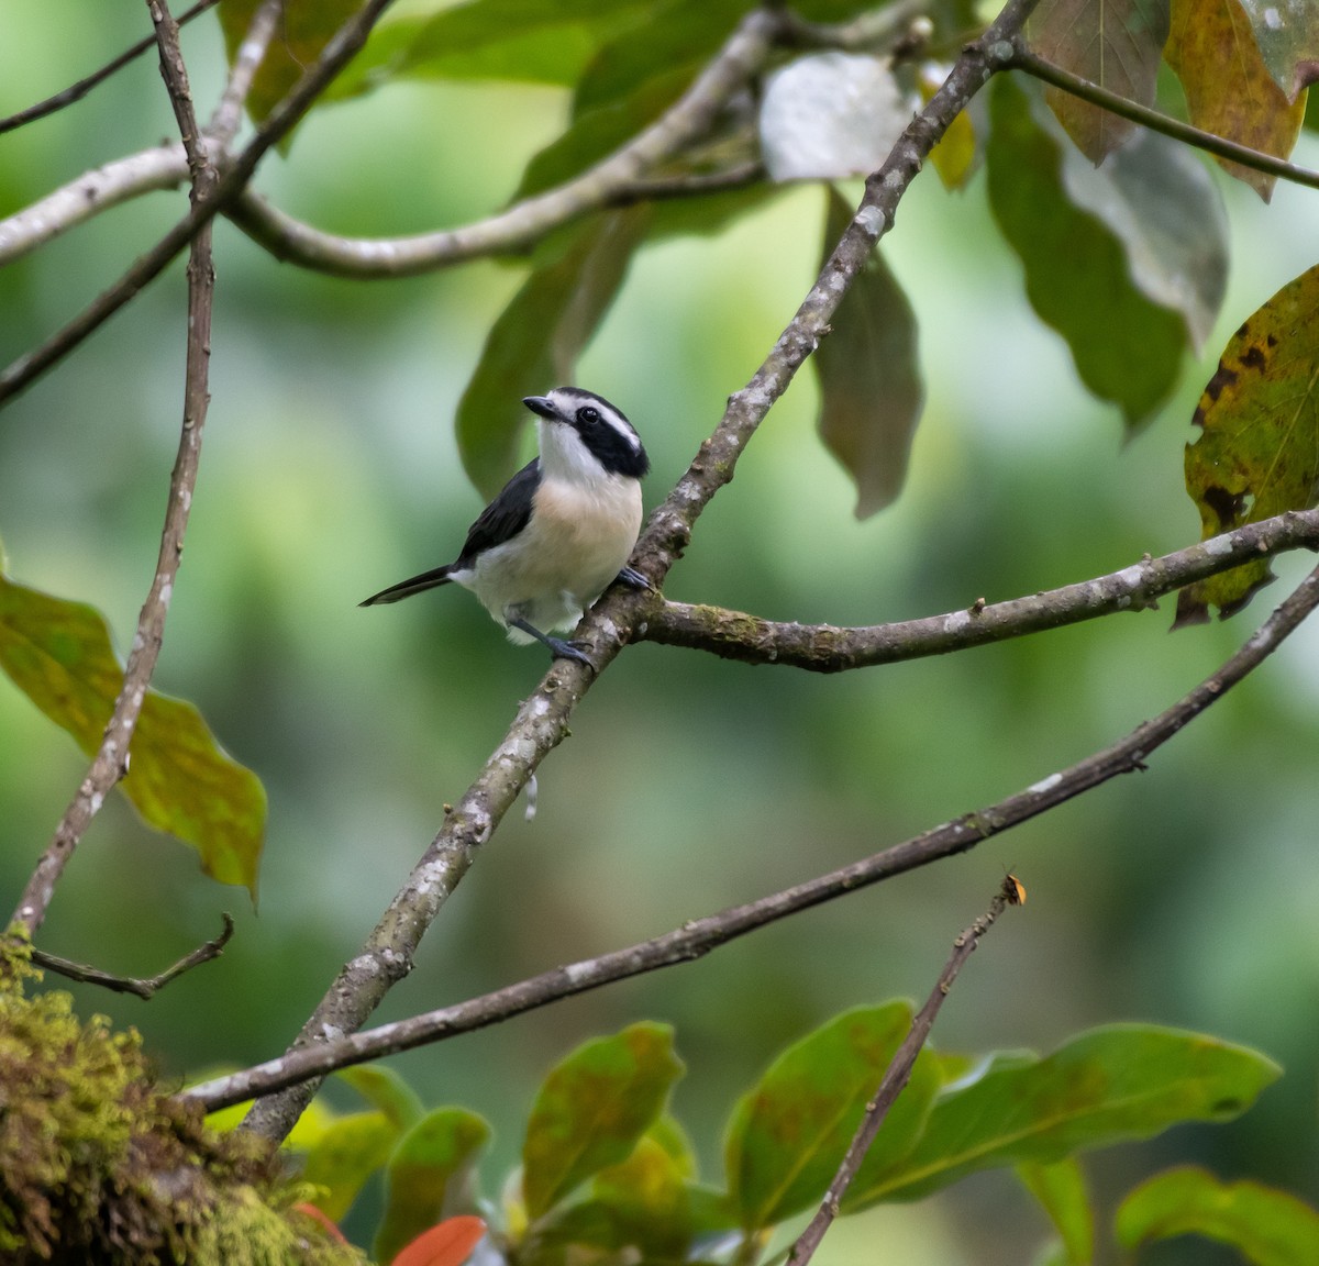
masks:
<path id="1" fill-rule="evenodd" d="M 462 1108 L 437 1108 L 404 1134 L 385 1171 L 376 1261 L 392 1262 L 429 1226 L 472 1207 L 472 1171 L 489 1139 L 489 1125 Z"/>

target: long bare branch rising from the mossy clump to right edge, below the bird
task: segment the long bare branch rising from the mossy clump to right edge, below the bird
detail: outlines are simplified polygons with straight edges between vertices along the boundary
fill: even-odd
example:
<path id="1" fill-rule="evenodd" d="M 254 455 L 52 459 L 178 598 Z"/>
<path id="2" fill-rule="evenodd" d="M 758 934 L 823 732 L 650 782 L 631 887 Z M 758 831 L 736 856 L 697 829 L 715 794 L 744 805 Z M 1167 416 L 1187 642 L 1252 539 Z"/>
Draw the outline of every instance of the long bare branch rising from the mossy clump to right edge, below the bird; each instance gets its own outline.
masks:
<path id="1" fill-rule="evenodd" d="M 260 1095 L 288 1091 L 302 1083 L 313 1083 L 335 1068 L 361 1064 L 383 1055 L 413 1050 L 433 1042 L 484 1029 L 513 1015 L 547 1006 L 561 998 L 599 989 L 616 980 L 641 976 L 678 963 L 704 957 L 719 946 L 745 936 L 760 927 L 787 918 L 802 910 L 836 901 L 851 891 L 882 882 L 893 876 L 915 870 L 944 857 L 964 853 L 981 840 L 1000 835 L 1012 827 L 1038 818 L 1059 804 L 1089 791 L 1119 774 L 1145 769 L 1151 752 L 1161 748 L 1174 735 L 1221 699 L 1233 686 L 1244 680 L 1293 633 L 1302 621 L 1319 607 L 1319 568 L 1273 612 L 1246 644 L 1223 667 L 1207 677 L 1192 691 L 1138 725 L 1125 738 L 1078 761 L 1067 769 L 1041 778 L 1031 786 L 1009 795 L 997 804 L 976 812 L 963 814 L 952 822 L 931 827 L 922 835 L 880 853 L 807 880 L 794 888 L 772 893 L 758 901 L 732 906 L 719 914 L 691 919 L 675 931 L 653 940 L 644 940 L 625 950 L 615 950 L 595 959 L 583 959 L 558 967 L 487 993 L 454 1006 L 413 1015 L 409 1019 L 381 1025 L 365 1033 L 322 1040 L 313 1046 L 290 1050 L 278 1059 L 268 1060 L 195 1085 L 183 1093 L 199 1100 L 208 1112 L 227 1108 Z M 310 1092 L 307 1093 L 310 1099 Z M 257 1105 L 260 1106 L 260 1105 Z"/>

